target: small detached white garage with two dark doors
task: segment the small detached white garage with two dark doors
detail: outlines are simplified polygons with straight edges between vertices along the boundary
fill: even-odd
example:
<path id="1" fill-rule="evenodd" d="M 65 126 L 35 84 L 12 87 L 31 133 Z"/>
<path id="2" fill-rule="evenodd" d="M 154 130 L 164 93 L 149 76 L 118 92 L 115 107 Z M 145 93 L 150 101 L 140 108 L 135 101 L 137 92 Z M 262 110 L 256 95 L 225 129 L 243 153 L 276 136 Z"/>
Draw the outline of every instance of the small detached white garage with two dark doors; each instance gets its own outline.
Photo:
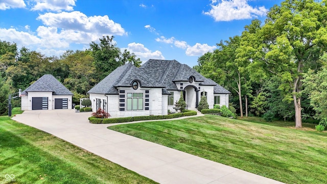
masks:
<path id="1" fill-rule="evenodd" d="M 72 97 L 71 91 L 46 74 L 21 92 L 21 110 L 72 109 Z"/>

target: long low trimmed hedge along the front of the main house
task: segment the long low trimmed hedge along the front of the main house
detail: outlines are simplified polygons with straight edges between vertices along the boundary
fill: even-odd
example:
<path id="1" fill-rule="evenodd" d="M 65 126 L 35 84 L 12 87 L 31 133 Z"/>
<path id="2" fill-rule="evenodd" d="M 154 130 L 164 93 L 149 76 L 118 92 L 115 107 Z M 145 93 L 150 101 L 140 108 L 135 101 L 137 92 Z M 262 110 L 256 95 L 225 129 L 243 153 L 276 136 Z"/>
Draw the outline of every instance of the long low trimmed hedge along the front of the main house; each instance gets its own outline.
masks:
<path id="1" fill-rule="evenodd" d="M 124 122 L 132 122 L 132 121 L 143 121 L 143 120 L 162 120 L 162 119 L 172 119 L 172 118 L 179 118 L 179 117 L 185 117 L 185 116 L 194 116 L 197 112 L 194 110 L 188 110 L 186 112 L 182 113 L 173 113 L 168 115 L 158 115 L 158 116 L 138 116 L 138 117 L 126 117 L 126 118 L 107 118 L 107 119 L 101 119 L 101 118 L 94 118 L 89 117 L 88 120 L 90 123 L 94 124 L 108 124 L 108 123 L 124 123 Z"/>

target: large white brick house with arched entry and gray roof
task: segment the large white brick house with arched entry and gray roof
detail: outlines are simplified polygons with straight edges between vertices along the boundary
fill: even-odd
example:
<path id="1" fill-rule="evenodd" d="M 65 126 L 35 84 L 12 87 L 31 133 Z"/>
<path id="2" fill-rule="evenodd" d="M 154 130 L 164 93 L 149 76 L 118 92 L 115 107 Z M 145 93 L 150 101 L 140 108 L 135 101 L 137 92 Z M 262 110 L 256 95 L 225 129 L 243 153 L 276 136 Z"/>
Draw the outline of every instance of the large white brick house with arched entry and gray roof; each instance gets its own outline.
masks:
<path id="1" fill-rule="evenodd" d="M 176 60 L 150 59 L 139 68 L 122 65 L 87 93 L 93 111 L 101 108 L 112 117 L 132 117 L 175 112 L 180 91 L 189 109 L 198 107 L 201 96 L 207 97 L 209 108 L 228 107 L 227 89 Z"/>

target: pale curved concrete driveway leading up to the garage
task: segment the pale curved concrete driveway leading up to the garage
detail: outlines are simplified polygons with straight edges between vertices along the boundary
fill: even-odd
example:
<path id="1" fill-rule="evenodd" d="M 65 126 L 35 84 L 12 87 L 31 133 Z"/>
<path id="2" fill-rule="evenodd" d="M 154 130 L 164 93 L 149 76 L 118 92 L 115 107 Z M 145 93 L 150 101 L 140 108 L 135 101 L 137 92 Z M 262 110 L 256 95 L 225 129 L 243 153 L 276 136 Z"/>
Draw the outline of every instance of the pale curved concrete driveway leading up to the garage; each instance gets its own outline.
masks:
<path id="1" fill-rule="evenodd" d="M 89 112 L 33 110 L 13 120 L 51 133 L 159 183 L 281 183 L 90 124 Z"/>

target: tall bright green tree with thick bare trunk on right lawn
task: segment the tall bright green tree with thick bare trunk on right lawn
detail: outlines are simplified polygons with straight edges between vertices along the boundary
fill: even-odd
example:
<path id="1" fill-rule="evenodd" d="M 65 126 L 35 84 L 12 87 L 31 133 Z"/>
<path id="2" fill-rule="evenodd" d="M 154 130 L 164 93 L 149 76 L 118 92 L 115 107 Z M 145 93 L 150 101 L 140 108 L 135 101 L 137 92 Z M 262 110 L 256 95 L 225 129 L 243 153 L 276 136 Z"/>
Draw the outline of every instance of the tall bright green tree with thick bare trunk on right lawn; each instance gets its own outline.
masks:
<path id="1" fill-rule="evenodd" d="M 295 127 L 302 126 L 302 76 L 327 49 L 326 1 L 286 0 L 268 12 L 262 47 L 270 72 L 281 77 L 286 101 L 293 101 Z"/>

